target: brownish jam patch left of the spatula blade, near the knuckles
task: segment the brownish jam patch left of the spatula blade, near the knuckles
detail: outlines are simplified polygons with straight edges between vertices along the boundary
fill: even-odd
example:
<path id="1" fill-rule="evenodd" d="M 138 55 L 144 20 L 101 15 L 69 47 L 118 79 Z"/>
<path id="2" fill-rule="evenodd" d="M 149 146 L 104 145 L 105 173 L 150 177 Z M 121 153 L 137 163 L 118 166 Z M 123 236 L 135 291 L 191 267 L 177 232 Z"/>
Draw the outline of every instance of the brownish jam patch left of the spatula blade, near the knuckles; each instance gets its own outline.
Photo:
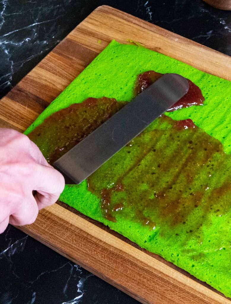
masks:
<path id="1" fill-rule="evenodd" d="M 127 102 L 106 97 L 87 98 L 49 116 L 29 134 L 49 163 L 53 163 L 98 128 Z"/>

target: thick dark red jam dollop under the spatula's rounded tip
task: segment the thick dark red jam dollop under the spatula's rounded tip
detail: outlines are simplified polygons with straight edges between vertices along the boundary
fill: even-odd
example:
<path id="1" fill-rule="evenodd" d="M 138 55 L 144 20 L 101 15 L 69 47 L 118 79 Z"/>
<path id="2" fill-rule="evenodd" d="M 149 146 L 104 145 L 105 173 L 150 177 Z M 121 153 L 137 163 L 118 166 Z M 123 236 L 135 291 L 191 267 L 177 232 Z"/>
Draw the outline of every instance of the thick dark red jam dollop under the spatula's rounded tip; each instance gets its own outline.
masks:
<path id="1" fill-rule="evenodd" d="M 163 74 L 157 73 L 155 71 L 147 71 L 143 74 L 138 75 L 135 88 L 134 95 L 138 95 L 143 92 L 146 88 L 148 88 L 152 83 L 154 83 L 158 78 L 160 78 Z M 191 80 L 188 79 L 189 82 L 189 91 L 185 96 L 183 96 L 178 102 L 176 102 L 171 109 L 168 109 L 167 112 L 176 111 L 182 108 L 188 108 L 192 105 L 203 105 L 205 98 L 202 95 L 200 88 L 195 85 Z"/>

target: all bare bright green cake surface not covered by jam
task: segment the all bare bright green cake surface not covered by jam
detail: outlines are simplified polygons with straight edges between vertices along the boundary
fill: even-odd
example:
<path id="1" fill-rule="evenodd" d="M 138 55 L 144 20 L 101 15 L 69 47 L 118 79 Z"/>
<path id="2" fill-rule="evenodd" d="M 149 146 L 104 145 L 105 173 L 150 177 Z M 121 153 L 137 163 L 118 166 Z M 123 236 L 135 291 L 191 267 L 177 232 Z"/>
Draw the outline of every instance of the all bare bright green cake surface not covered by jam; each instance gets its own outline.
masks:
<path id="1" fill-rule="evenodd" d="M 193 81 L 205 97 L 204 106 L 192 106 L 166 113 L 174 120 L 192 119 L 196 126 L 219 140 L 226 156 L 231 154 L 231 85 L 219 77 L 206 74 L 178 60 L 135 45 L 112 41 L 86 69 L 42 112 L 25 131 L 29 134 L 44 119 L 73 103 L 88 97 L 116 98 L 130 101 L 138 74 L 145 71 L 178 73 Z M 42 147 L 39 147 L 42 149 Z M 230 164 L 230 161 L 229 161 Z M 230 169 L 230 168 L 229 168 Z M 226 170 L 224 175 L 229 174 Z M 217 177 L 218 181 L 222 177 Z M 231 178 L 231 176 L 230 176 Z M 176 241 L 175 234 L 161 236 L 160 228 L 149 227 L 127 217 L 112 222 L 102 216 L 100 199 L 87 190 L 87 182 L 66 185 L 60 200 L 83 214 L 96 219 L 137 243 L 161 255 L 202 281 L 231 296 L 231 210 L 223 216 L 212 216 L 202 226 L 203 241 L 188 237 Z M 224 198 L 230 206 L 230 193 Z"/>

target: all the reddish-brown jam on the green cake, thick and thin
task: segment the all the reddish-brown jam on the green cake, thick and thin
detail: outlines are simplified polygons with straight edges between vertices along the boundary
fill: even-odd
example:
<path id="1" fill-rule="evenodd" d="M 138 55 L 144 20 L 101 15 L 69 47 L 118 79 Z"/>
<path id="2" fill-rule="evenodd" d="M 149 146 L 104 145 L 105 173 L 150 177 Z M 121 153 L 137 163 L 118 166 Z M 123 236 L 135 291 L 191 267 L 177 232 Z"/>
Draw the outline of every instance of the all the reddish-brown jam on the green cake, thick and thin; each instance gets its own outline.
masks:
<path id="1" fill-rule="evenodd" d="M 135 94 L 159 77 L 154 71 L 139 75 Z M 202 103 L 199 88 L 190 87 L 182 107 Z M 45 119 L 29 138 L 53 163 L 126 104 L 88 98 Z M 87 184 L 110 221 L 121 217 L 150 230 L 161 227 L 161 233 L 180 226 L 197 236 L 208 214 L 222 216 L 231 207 L 230 168 L 230 156 L 218 140 L 191 119 L 175 121 L 163 115 L 87 178 Z"/>

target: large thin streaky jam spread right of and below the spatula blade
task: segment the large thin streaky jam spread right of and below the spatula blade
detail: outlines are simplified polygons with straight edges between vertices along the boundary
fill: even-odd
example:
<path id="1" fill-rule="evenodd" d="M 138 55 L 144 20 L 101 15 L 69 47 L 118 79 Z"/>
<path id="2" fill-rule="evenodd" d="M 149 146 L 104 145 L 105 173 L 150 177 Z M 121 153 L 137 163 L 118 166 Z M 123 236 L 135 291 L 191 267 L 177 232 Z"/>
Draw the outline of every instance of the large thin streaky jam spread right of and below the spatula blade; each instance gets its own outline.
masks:
<path id="1" fill-rule="evenodd" d="M 218 140 L 163 116 L 87 180 L 107 219 L 121 216 L 162 231 L 188 223 L 192 233 L 209 213 L 230 208 L 223 204 L 231 190 L 229 165 Z"/>

